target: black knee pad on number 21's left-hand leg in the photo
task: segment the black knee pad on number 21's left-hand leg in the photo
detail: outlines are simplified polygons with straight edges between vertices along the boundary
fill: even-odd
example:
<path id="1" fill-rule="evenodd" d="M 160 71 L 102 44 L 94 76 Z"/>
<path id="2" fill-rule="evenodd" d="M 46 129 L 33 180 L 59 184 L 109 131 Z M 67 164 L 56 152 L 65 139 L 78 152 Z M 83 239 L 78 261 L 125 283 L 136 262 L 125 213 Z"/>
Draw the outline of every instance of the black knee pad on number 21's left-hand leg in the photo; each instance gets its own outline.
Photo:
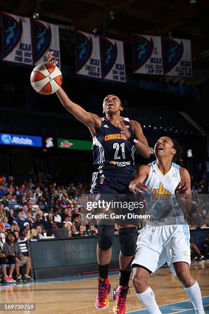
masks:
<path id="1" fill-rule="evenodd" d="M 102 250 L 111 248 L 114 239 L 114 225 L 98 225 L 98 246 Z"/>

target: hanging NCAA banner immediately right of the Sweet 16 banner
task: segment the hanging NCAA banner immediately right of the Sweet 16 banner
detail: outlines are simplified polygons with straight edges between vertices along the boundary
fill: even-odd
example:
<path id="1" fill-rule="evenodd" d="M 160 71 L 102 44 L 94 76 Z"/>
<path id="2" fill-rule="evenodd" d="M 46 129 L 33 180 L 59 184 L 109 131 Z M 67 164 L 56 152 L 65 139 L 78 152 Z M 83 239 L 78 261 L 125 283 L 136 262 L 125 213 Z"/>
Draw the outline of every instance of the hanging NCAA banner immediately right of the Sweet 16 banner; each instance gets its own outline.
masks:
<path id="1" fill-rule="evenodd" d="M 123 42 L 101 36 L 100 43 L 102 78 L 126 82 Z"/>

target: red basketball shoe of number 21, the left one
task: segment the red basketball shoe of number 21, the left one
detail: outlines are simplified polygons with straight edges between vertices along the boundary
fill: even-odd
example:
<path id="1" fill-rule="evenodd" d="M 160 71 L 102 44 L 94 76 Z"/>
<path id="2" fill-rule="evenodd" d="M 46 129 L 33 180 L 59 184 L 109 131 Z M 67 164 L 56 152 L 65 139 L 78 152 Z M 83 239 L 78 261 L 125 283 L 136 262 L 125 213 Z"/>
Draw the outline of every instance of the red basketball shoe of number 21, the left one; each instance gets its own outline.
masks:
<path id="1" fill-rule="evenodd" d="M 108 306 L 108 293 L 110 293 L 110 283 L 108 279 L 98 278 L 98 290 L 95 306 L 98 309 L 104 309 Z"/>

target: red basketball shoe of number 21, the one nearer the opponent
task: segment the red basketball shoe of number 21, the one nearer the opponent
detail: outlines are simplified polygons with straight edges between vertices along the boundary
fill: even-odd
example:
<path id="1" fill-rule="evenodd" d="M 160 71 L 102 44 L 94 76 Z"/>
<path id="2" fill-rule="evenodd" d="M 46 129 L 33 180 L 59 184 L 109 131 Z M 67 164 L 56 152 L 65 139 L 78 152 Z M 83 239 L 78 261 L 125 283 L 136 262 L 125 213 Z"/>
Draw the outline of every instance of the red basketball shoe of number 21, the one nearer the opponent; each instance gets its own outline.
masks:
<path id="1" fill-rule="evenodd" d="M 126 298 L 128 293 L 130 293 L 129 286 L 117 286 L 117 288 L 113 290 L 113 299 L 115 300 L 113 313 L 126 313 Z"/>

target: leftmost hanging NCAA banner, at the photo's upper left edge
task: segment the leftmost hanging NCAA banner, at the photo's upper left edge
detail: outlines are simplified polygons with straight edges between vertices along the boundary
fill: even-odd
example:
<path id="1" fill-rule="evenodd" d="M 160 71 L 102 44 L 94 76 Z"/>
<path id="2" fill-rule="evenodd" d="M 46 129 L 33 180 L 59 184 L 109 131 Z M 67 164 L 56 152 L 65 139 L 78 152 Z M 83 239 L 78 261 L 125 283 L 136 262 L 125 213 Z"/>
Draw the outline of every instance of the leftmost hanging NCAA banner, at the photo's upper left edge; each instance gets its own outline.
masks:
<path id="1" fill-rule="evenodd" d="M 33 64 L 30 18 L 2 12 L 2 59 Z"/>

